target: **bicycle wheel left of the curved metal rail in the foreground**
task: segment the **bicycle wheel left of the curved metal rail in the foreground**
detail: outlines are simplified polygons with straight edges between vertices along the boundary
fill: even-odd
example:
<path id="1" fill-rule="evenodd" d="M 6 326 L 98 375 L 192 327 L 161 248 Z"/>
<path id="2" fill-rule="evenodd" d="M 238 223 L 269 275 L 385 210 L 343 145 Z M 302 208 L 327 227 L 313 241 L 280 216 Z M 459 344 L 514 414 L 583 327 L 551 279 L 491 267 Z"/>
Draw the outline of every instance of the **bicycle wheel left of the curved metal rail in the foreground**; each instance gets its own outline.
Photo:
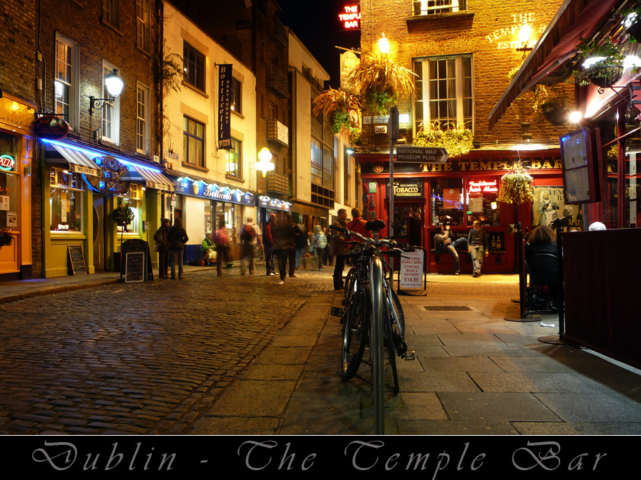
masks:
<path id="1" fill-rule="evenodd" d="M 370 328 L 370 292 L 360 286 L 347 305 L 347 315 L 343 321 L 343 346 L 341 364 L 345 380 L 356 375 L 363 359 Z"/>

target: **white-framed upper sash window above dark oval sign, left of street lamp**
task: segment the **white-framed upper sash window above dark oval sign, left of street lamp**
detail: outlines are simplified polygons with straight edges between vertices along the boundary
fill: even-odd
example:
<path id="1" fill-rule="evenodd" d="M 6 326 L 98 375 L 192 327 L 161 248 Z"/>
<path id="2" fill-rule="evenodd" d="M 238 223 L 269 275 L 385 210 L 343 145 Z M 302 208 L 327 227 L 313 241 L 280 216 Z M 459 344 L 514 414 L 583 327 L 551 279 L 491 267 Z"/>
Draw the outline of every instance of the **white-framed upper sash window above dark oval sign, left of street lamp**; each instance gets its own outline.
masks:
<path id="1" fill-rule="evenodd" d="M 71 130 L 77 128 L 78 46 L 56 36 L 56 72 L 53 80 L 53 109 L 62 114 Z"/>

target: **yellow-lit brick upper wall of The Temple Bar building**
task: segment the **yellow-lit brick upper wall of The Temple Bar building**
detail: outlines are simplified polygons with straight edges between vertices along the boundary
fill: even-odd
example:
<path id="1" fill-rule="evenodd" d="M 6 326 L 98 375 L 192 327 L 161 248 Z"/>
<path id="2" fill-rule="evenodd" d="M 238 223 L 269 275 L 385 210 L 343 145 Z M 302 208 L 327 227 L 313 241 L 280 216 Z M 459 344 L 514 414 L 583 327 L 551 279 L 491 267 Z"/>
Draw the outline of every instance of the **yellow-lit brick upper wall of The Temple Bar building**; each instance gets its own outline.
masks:
<path id="1" fill-rule="evenodd" d="M 543 33 L 557 12 L 561 0 L 468 0 L 467 14 L 449 13 L 411 19 L 411 0 L 377 0 L 361 4 L 361 48 L 378 53 L 377 40 L 382 34 L 389 39 L 392 60 L 411 69 L 413 58 L 437 55 L 473 55 L 474 140 L 484 145 L 521 142 L 523 133 L 532 142 L 558 142 L 564 128 L 547 122 L 523 129 L 532 120 L 531 94 L 517 100 L 507 109 L 498 124 L 488 130 L 488 116 L 500 99 L 510 79 L 508 72 L 522 64 L 518 45 L 519 26 L 524 20 L 533 27 L 530 46 Z M 410 20 L 408 20 L 410 19 Z M 427 88 L 427 86 L 425 87 Z M 564 86 L 574 95 L 574 86 Z M 410 112 L 409 100 L 399 102 L 399 111 Z M 365 114 L 368 114 L 365 112 Z M 408 141 L 411 131 L 406 132 Z M 363 131 L 365 149 L 389 145 L 387 135 Z"/>

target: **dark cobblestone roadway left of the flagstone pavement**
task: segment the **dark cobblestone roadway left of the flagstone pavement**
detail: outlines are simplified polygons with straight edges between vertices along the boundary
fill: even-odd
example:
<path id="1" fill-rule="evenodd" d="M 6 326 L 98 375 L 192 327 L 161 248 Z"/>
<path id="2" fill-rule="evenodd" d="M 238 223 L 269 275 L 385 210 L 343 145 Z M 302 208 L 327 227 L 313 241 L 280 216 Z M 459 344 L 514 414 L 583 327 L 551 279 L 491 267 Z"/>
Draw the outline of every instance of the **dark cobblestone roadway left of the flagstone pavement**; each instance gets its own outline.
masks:
<path id="1" fill-rule="evenodd" d="M 300 273 L 299 273 L 300 272 Z M 332 269 L 278 285 L 264 267 L 8 302 L 1 434 L 184 434 Z"/>

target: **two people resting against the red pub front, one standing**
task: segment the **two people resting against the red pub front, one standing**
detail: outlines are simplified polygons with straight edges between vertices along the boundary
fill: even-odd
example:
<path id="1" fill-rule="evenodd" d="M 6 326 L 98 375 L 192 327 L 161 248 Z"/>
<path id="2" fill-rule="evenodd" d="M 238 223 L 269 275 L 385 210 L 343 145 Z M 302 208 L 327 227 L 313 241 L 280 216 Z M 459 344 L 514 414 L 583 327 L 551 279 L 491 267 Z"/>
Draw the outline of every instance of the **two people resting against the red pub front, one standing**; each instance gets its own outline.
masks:
<path id="1" fill-rule="evenodd" d="M 434 235 L 434 251 L 442 255 L 449 253 L 454 258 L 454 274 L 460 274 L 460 260 L 458 258 L 457 250 L 466 250 L 472 258 L 472 276 L 481 276 L 481 267 L 483 267 L 483 260 L 489 252 L 488 234 L 481 228 L 481 222 L 474 220 L 470 233 L 467 234 L 467 239 L 464 236 L 459 239 L 452 240 L 450 226 L 443 227 L 439 225 L 436 227 L 436 234 Z"/>

